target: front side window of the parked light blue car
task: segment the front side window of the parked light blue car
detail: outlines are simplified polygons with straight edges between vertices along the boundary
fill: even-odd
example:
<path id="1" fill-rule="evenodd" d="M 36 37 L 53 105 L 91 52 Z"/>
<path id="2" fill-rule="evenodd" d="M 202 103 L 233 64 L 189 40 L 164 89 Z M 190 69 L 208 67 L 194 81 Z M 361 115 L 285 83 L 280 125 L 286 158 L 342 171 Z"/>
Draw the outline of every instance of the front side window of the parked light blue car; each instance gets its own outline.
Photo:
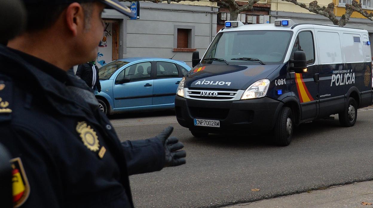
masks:
<path id="1" fill-rule="evenodd" d="M 115 79 L 115 83 L 123 78 L 128 78 L 130 82 L 141 81 L 150 79 L 151 73 L 151 63 L 142 62 L 138 64 L 133 64 L 125 69 L 123 69 Z"/>

